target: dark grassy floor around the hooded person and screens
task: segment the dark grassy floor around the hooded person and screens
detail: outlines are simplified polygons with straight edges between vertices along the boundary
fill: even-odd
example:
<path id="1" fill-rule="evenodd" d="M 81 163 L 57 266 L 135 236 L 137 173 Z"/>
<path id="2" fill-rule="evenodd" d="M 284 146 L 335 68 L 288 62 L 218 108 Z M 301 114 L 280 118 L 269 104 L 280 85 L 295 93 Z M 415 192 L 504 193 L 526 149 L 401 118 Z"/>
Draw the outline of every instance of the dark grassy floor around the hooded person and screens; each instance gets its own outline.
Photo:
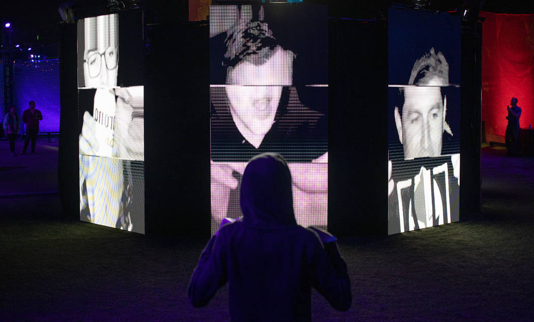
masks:
<path id="1" fill-rule="evenodd" d="M 227 286 L 205 308 L 187 301 L 206 239 L 144 236 L 62 214 L 51 180 L 57 149 L 44 152 L 42 140 L 38 154 L 15 157 L 0 141 L 0 320 L 229 319 Z M 314 292 L 313 320 L 534 319 L 534 158 L 504 153 L 482 150 L 475 219 L 340 238 L 352 307 L 337 312 Z"/>

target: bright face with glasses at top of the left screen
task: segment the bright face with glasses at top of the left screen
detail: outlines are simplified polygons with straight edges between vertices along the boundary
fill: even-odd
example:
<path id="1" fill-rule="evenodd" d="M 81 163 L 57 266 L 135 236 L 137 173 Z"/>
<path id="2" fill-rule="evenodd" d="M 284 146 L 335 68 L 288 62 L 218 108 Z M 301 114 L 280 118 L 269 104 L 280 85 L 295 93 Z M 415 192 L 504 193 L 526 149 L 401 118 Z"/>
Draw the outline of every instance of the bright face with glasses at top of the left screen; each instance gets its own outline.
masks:
<path id="1" fill-rule="evenodd" d="M 117 85 L 119 19 L 116 14 L 85 18 L 83 77 L 85 87 Z"/>

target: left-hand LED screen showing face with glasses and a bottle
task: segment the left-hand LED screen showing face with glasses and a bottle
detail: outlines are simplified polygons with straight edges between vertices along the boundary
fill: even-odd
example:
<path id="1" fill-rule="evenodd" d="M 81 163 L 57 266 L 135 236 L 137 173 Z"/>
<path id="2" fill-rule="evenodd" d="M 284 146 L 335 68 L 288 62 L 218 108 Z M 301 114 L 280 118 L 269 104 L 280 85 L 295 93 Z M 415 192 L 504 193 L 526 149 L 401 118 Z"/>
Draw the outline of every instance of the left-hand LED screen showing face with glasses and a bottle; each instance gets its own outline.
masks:
<path id="1" fill-rule="evenodd" d="M 77 21 L 80 220 L 145 232 L 143 14 Z"/>

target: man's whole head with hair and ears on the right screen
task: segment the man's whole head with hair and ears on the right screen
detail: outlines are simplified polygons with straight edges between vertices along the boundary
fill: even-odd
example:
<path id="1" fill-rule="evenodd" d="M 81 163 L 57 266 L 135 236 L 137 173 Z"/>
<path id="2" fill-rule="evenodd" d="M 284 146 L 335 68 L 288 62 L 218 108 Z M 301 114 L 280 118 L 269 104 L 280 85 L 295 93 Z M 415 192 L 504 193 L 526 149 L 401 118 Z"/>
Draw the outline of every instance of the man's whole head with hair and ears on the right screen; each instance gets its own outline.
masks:
<path id="1" fill-rule="evenodd" d="M 446 97 L 442 86 L 449 85 L 449 65 L 434 48 L 418 59 L 409 85 L 402 89 L 404 104 L 395 107 L 395 124 L 404 159 L 441 156 L 443 132 L 452 135 L 445 122 Z M 415 85 L 415 86 L 413 86 Z"/>

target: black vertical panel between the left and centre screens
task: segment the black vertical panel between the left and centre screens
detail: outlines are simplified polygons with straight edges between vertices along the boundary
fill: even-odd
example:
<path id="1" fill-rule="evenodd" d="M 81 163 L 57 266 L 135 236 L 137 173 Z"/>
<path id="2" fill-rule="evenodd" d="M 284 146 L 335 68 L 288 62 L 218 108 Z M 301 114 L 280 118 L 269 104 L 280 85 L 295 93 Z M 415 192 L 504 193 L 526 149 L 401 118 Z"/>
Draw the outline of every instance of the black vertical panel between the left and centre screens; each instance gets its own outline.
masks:
<path id="1" fill-rule="evenodd" d="M 210 235 L 206 22 L 147 27 L 146 234 Z"/>

